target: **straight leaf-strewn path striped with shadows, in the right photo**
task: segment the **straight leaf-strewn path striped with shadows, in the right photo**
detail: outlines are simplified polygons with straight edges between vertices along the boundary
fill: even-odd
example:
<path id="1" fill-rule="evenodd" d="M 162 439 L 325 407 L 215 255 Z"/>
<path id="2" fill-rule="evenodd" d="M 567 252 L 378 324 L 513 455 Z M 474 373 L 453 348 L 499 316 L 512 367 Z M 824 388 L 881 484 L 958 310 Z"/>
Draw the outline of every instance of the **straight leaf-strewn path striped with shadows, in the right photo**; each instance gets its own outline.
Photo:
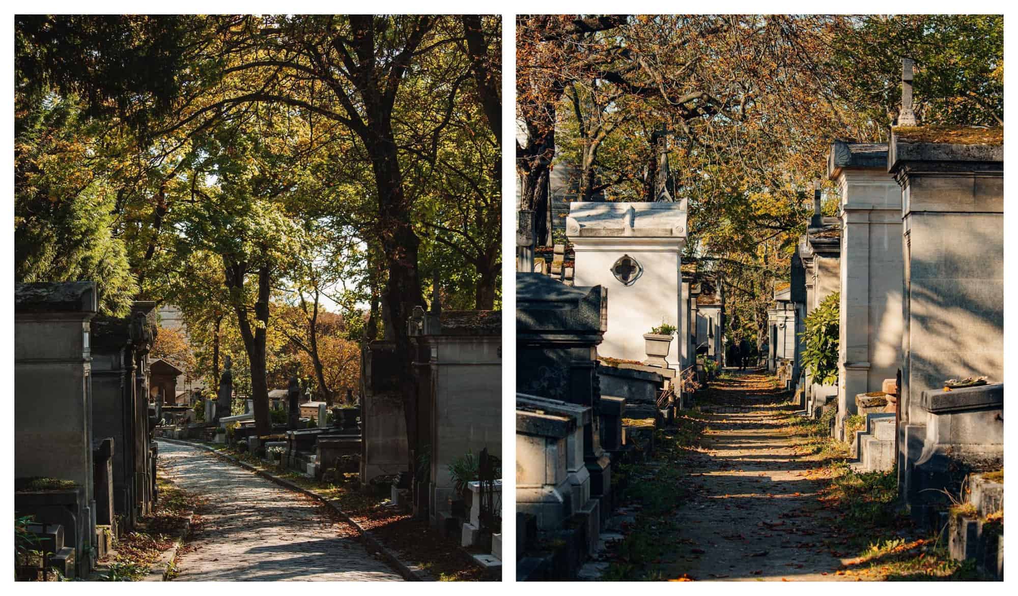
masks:
<path id="1" fill-rule="evenodd" d="M 823 464 L 797 453 L 787 428 L 794 407 L 776 403 L 785 395 L 772 379 L 736 372 L 716 381 L 720 399 L 703 408 L 712 414 L 702 449 L 689 461 L 695 496 L 677 512 L 683 545 L 668 577 L 859 579 L 838 573 L 851 555 L 838 550 L 834 514 L 816 500 Z"/>

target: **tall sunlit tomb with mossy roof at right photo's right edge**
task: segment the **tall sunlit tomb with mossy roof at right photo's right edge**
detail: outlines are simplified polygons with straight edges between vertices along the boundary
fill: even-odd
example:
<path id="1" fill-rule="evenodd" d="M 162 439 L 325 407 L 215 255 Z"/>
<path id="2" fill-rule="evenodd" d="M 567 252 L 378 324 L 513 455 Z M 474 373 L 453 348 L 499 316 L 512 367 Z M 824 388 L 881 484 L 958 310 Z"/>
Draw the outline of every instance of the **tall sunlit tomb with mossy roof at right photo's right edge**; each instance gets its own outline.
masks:
<path id="1" fill-rule="evenodd" d="M 923 393 L 951 378 L 1004 377 L 1003 131 L 949 132 L 950 143 L 923 127 L 895 128 L 888 150 L 903 216 L 898 480 L 906 495 L 938 412 L 924 407 Z"/>

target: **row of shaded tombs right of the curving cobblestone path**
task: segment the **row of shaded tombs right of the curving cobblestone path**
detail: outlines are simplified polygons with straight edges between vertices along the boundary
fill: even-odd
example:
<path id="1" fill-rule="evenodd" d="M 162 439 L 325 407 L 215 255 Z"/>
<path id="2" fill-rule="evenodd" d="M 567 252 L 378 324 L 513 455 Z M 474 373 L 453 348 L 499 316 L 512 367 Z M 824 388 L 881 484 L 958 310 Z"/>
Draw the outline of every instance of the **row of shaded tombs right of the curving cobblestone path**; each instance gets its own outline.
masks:
<path id="1" fill-rule="evenodd" d="M 342 406 L 304 401 L 296 377 L 269 392 L 274 420 L 260 434 L 248 400 L 232 412 L 231 375 L 219 400 L 205 404 L 205 421 L 184 418 L 158 431 L 204 438 L 249 453 L 306 477 L 389 498 L 453 537 L 490 573 L 501 570 L 502 316 L 498 310 L 418 308 L 406 321 L 416 399 L 405 407 L 404 375 L 391 326 L 361 350 L 359 399 Z M 275 416 L 278 414 L 278 416 Z M 409 428 L 411 433 L 407 432 Z M 482 477 L 482 460 L 487 476 Z M 410 465 L 413 462 L 413 465 Z M 472 474 L 457 490 L 450 466 Z M 462 472 L 461 472 L 462 473 Z"/>

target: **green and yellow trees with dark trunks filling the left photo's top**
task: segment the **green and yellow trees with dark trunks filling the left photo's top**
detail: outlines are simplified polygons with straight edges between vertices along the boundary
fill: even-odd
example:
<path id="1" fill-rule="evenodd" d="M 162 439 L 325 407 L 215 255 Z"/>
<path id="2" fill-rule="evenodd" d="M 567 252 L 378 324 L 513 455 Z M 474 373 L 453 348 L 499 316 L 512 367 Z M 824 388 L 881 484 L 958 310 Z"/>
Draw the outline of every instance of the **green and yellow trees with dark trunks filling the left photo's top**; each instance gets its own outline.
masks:
<path id="1" fill-rule="evenodd" d="M 270 381 L 342 395 L 385 327 L 410 382 L 429 286 L 501 301 L 500 40 L 497 16 L 18 16 L 15 278 L 177 305 L 262 430 Z"/>

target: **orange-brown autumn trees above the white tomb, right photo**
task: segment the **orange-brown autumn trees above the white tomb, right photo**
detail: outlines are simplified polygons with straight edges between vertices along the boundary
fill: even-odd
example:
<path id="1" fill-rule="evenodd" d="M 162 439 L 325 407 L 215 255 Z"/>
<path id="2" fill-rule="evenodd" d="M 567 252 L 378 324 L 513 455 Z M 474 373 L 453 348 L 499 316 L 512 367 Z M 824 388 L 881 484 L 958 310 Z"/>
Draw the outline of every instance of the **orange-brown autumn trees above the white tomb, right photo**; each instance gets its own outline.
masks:
<path id="1" fill-rule="evenodd" d="M 539 244 L 550 169 L 575 169 L 578 200 L 654 200 L 665 142 L 685 256 L 725 278 L 736 341 L 762 341 L 831 142 L 888 139 L 902 58 L 920 121 L 1003 123 L 1000 15 L 522 15 L 516 43 L 520 205 Z"/>

